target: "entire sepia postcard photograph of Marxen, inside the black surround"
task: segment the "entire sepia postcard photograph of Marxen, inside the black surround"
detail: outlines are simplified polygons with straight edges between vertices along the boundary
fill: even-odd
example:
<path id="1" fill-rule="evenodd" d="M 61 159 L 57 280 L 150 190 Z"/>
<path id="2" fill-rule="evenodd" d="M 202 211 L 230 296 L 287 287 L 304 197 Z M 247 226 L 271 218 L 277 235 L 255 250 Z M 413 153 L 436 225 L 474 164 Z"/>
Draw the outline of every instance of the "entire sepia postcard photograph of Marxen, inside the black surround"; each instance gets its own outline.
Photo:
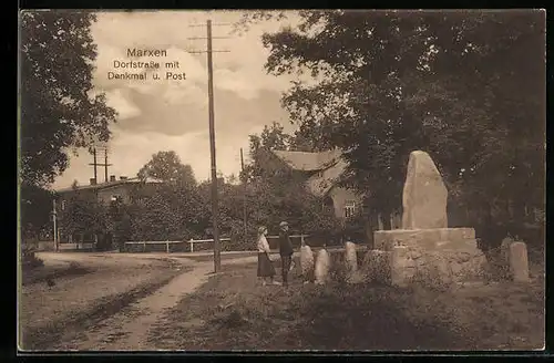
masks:
<path id="1" fill-rule="evenodd" d="M 20 11 L 19 351 L 544 350 L 545 28 Z"/>

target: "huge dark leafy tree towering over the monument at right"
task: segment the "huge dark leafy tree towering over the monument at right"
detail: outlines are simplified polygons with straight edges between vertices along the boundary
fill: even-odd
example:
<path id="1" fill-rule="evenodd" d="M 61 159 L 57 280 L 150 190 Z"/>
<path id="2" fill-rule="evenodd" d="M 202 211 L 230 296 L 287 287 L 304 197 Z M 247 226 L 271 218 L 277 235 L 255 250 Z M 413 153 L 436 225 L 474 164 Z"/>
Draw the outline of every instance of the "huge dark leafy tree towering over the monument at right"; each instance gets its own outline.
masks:
<path id="1" fill-rule="evenodd" d="M 299 14 L 297 28 L 263 37 L 266 69 L 319 77 L 283 103 L 315 144 L 346 151 L 343 184 L 370 208 L 400 206 L 409 153 L 424 149 L 460 190 L 455 201 L 488 210 L 512 200 L 521 214 L 527 185 L 544 210 L 542 13 Z"/>

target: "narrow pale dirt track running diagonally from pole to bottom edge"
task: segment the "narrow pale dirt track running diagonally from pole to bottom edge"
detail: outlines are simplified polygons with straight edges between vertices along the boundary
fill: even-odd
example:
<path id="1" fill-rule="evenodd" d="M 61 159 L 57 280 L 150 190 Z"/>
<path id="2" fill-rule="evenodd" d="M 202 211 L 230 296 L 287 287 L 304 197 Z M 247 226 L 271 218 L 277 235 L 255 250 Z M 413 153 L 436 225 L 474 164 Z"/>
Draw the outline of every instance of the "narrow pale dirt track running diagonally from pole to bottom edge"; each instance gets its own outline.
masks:
<path id="1" fill-rule="evenodd" d="M 160 259 L 160 255 L 141 256 L 141 259 Z M 192 270 L 173 278 L 154 293 L 123 308 L 115 314 L 88 326 L 65 332 L 48 350 L 63 351 L 127 351 L 156 350 L 147 336 L 151 329 L 163 324 L 166 309 L 173 308 L 186 294 L 194 292 L 213 274 L 213 262 L 195 262 L 182 257 L 170 257 Z M 255 261 L 256 257 L 237 257 L 223 260 L 223 266 Z M 178 349 L 176 346 L 175 349 Z"/>

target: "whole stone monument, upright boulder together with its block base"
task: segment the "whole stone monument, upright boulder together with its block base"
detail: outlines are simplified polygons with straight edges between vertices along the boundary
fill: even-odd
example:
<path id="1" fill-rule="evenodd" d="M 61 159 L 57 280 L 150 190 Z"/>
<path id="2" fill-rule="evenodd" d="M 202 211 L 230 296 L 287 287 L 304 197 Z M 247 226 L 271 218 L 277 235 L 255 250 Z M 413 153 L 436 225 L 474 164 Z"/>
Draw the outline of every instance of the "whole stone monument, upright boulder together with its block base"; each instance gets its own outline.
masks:
<path id="1" fill-rule="evenodd" d="M 388 253 L 389 281 L 407 286 L 417 277 L 463 282 L 480 279 L 486 259 L 473 228 L 448 228 L 448 191 L 429 154 L 412 152 L 402 195 L 402 229 L 373 234 L 375 249 Z"/>

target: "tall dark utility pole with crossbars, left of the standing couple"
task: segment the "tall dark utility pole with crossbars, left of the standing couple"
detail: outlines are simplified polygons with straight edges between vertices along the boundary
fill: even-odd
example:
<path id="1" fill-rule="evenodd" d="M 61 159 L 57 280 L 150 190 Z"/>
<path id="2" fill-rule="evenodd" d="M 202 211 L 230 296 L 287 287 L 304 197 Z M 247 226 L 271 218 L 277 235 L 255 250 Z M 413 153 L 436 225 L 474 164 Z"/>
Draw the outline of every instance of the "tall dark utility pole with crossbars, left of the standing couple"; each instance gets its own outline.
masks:
<path id="1" fill-rule="evenodd" d="M 218 24 L 223 25 L 223 24 Z M 191 25 L 191 27 L 203 27 L 203 25 Z M 207 73 L 208 73 L 208 117 L 209 117 L 209 155 L 211 155 L 211 169 L 212 169 L 212 224 L 213 224 L 213 235 L 214 235 L 214 272 L 219 272 L 222 269 L 222 256 L 219 246 L 219 229 L 218 229 L 218 191 L 217 191 L 217 169 L 216 169 L 216 154 L 215 154 L 215 112 L 214 112 L 214 70 L 212 54 L 214 52 L 227 52 L 227 51 L 214 51 L 212 50 L 212 20 L 206 21 L 206 38 L 189 38 L 191 40 L 206 39 L 207 50 L 204 51 L 189 51 L 189 53 L 207 53 Z M 217 38 L 228 38 L 228 37 L 217 37 Z"/>

